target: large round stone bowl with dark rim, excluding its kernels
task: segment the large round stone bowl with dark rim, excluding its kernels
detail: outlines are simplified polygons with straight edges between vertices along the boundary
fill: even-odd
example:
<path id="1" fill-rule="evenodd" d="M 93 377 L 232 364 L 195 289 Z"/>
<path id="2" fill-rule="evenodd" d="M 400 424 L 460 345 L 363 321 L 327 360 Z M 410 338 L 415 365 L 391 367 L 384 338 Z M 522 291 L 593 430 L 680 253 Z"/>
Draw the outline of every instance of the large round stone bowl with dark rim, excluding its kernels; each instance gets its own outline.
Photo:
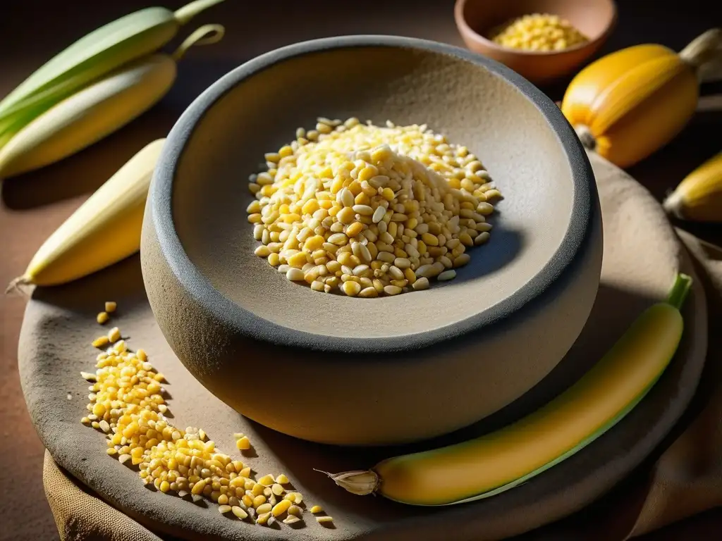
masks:
<path id="1" fill-rule="evenodd" d="M 427 291 L 358 299 L 253 254 L 248 175 L 318 116 L 428 123 L 505 199 L 487 245 Z M 396 444 L 478 421 L 562 359 L 599 286 L 588 158 L 538 89 L 495 61 L 409 38 L 298 43 L 212 84 L 174 126 L 149 191 L 142 271 L 173 351 L 253 421 L 328 444 Z"/>

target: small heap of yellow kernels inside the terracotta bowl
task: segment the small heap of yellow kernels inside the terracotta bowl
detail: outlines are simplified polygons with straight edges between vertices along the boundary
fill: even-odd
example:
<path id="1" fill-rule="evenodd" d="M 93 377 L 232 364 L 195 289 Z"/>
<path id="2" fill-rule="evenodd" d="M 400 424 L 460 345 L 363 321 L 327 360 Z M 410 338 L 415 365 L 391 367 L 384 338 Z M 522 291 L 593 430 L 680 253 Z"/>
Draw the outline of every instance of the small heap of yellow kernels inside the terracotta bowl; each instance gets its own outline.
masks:
<path id="1" fill-rule="evenodd" d="M 516 49 L 564 50 L 588 40 L 566 19 L 534 13 L 503 25 L 492 33 L 492 41 Z"/>

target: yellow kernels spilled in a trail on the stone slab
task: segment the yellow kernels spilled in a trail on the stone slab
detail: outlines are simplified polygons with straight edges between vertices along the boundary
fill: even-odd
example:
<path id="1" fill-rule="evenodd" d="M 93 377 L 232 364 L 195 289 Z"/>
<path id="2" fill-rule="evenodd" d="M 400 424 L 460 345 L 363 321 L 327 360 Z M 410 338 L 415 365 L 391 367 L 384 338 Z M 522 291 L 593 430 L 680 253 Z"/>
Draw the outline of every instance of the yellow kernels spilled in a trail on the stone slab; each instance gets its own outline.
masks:
<path id="1" fill-rule="evenodd" d="M 106 304 L 106 312 L 115 309 L 115 303 Z M 101 324 L 106 321 L 104 317 Z M 254 480 L 250 466 L 219 452 L 201 428 L 173 426 L 164 415 L 168 405 L 163 374 L 155 371 L 142 349 L 129 350 L 118 327 L 92 345 L 108 348 L 98 354 L 95 372 L 81 372 L 92 382 L 90 413 L 81 422 L 106 434 L 110 456 L 138 467 L 144 484 L 192 501 L 209 498 L 226 516 L 267 526 L 277 520 L 284 524 L 303 520 L 303 495 L 290 490 L 286 475 Z M 234 436 L 238 449 L 251 448 L 248 436 Z M 333 521 L 321 506 L 311 507 L 310 512 L 319 524 Z"/>

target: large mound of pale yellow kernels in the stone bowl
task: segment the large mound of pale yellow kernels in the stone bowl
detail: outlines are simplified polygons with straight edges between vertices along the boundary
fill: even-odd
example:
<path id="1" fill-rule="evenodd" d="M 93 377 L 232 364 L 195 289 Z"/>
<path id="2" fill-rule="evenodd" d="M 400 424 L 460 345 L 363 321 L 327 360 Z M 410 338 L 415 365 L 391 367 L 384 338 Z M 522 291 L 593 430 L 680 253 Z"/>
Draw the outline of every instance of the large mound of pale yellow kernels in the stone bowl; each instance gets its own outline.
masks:
<path id="1" fill-rule="evenodd" d="M 479 159 L 427 126 L 319 118 L 265 155 L 247 208 L 256 255 L 288 280 L 348 296 L 451 280 L 490 238 L 500 192 Z"/>

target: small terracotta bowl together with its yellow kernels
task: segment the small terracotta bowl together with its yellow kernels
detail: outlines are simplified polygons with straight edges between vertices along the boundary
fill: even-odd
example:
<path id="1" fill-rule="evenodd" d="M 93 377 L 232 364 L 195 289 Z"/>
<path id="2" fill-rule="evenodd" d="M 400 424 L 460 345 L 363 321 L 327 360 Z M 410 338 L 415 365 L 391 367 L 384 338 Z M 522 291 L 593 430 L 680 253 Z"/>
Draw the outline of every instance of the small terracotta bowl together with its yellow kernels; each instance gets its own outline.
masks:
<path id="1" fill-rule="evenodd" d="M 542 84 L 571 74 L 599 50 L 617 7 L 613 0 L 457 0 L 454 18 L 470 50 Z"/>

